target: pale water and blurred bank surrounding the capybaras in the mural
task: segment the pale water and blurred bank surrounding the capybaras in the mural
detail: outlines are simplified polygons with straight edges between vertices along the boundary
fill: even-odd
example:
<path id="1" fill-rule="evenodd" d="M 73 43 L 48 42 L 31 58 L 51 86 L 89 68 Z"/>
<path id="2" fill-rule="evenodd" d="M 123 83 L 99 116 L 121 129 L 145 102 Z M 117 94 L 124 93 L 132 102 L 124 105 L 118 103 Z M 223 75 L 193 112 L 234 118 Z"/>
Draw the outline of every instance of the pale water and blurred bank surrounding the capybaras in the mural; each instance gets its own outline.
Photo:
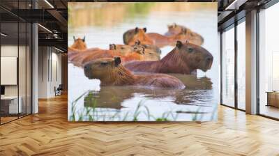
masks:
<path id="1" fill-rule="evenodd" d="M 172 75 L 186 85 L 183 90 L 100 87 L 98 79 L 87 79 L 82 68 L 68 63 L 69 120 L 216 119 L 219 57 L 215 3 L 87 3 L 86 6 L 75 3 L 69 8 L 69 46 L 73 44 L 73 36 L 86 36 L 88 47 L 108 49 L 111 43 L 123 44 L 123 33 L 135 26 L 163 34 L 167 24 L 175 22 L 202 35 L 202 47 L 214 57 L 208 72 L 198 70 L 197 75 Z M 171 49 L 170 46 L 162 48 L 161 58 Z"/>

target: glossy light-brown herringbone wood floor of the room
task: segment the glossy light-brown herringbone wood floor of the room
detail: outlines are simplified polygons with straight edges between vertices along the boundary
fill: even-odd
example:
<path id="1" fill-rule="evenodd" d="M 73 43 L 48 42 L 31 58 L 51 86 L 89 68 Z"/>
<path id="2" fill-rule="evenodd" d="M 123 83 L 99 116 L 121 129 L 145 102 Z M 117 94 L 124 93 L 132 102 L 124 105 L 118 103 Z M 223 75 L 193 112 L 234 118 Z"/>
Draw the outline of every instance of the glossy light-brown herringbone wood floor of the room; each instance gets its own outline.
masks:
<path id="1" fill-rule="evenodd" d="M 279 122 L 219 107 L 218 122 L 68 123 L 67 97 L 0 126 L 0 155 L 279 155 Z"/>

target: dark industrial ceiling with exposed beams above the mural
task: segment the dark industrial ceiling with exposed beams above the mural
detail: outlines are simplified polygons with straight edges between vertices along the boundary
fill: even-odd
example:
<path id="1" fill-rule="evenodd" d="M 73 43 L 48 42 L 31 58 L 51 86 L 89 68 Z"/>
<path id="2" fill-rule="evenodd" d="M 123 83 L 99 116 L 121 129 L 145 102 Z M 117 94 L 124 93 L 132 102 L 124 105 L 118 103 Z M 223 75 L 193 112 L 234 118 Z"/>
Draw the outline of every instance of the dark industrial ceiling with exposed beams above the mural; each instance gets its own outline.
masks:
<path id="1" fill-rule="evenodd" d="M 18 20 L 38 22 L 40 24 L 38 26 L 39 45 L 52 45 L 66 51 L 68 40 L 67 3 L 76 1 L 90 0 L 1 0 L 0 15 L 1 22 L 4 23 L 2 24 L 3 29 L 6 29 L 7 33 L 13 34 L 10 35 L 10 38 L 13 38 L 13 36 L 17 38 L 17 26 L 13 22 Z M 194 2 L 197 0 L 175 1 Z M 262 6 L 269 1 L 272 0 L 204 0 L 202 2 L 218 2 L 218 30 L 220 31 L 232 25 L 237 20 L 236 17 L 245 17 L 246 11 Z M 22 36 L 22 32 L 24 31 L 20 31 L 19 36 Z"/>

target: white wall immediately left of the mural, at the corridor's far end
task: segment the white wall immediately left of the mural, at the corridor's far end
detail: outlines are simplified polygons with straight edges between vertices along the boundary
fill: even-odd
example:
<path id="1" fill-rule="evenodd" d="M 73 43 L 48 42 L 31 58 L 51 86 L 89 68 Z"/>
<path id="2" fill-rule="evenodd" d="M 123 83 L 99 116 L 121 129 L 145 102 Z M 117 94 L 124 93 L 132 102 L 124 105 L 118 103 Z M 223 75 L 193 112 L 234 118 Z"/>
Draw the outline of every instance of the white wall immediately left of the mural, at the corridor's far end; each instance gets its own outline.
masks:
<path id="1" fill-rule="evenodd" d="M 39 47 L 38 51 L 38 98 L 51 98 L 54 87 L 61 84 L 61 54 L 53 47 Z"/>

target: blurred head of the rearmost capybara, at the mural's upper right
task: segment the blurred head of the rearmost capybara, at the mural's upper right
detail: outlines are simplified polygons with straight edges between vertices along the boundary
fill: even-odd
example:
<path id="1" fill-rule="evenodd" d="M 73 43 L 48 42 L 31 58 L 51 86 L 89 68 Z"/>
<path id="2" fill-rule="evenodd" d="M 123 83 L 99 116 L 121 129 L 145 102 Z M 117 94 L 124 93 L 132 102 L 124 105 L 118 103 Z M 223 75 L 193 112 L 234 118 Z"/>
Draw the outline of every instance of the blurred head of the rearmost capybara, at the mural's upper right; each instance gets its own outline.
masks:
<path id="1" fill-rule="evenodd" d="M 181 33 L 175 36 L 175 39 L 182 42 L 186 42 L 186 40 L 188 40 L 195 45 L 202 45 L 204 43 L 204 38 L 202 38 L 202 36 L 186 28 L 182 29 Z"/>

